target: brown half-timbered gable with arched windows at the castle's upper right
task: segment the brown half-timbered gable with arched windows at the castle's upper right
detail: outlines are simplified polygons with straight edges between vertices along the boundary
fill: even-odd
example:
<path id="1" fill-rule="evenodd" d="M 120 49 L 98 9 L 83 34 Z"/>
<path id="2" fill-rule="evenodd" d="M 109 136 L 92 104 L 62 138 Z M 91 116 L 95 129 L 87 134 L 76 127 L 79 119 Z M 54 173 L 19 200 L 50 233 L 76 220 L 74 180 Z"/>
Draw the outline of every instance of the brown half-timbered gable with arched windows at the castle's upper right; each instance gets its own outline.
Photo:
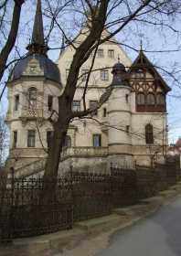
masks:
<path id="1" fill-rule="evenodd" d="M 149 59 L 140 51 L 130 69 L 136 112 L 166 112 L 165 97 L 170 88 Z"/>

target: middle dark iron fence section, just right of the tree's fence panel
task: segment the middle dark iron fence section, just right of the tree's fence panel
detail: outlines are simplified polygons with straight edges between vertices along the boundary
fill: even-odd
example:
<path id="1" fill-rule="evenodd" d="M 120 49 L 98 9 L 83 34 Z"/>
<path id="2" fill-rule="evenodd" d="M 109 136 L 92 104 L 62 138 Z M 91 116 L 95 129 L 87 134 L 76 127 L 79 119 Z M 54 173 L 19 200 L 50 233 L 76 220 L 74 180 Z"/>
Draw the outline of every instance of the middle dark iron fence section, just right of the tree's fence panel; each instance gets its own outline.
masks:
<path id="1" fill-rule="evenodd" d="M 72 180 L 74 221 L 111 213 L 112 176 L 73 172 Z"/>

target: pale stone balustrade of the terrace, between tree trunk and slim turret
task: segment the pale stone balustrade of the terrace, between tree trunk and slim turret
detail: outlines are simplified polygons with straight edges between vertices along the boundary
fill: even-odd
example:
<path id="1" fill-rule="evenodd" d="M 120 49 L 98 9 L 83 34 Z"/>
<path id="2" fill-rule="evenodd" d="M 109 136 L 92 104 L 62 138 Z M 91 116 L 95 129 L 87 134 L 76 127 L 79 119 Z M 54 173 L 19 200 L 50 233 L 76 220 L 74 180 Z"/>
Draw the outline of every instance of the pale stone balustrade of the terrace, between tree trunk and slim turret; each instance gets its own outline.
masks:
<path id="1" fill-rule="evenodd" d="M 70 156 L 80 157 L 95 157 L 95 156 L 107 156 L 107 147 L 92 147 L 92 146 L 77 146 L 63 149 L 61 153 L 61 160 Z"/>

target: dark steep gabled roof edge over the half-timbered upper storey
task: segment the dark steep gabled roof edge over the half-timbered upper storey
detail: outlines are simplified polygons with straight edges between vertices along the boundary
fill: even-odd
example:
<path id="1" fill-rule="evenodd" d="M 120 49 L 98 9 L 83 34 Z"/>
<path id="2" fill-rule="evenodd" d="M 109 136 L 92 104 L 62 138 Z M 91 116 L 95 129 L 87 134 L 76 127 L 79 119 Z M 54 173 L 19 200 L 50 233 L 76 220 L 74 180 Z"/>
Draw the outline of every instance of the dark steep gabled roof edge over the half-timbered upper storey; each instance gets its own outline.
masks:
<path id="1" fill-rule="evenodd" d="M 160 80 L 166 92 L 171 91 L 171 88 L 166 84 L 165 80 L 161 77 L 159 72 L 154 68 L 154 64 L 149 59 L 147 59 L 142 49 L 140 50 L 138 57 L 133 61 L 129 72 L 140 68 L 149 70 L 154 76 L 154 79 Z"/>

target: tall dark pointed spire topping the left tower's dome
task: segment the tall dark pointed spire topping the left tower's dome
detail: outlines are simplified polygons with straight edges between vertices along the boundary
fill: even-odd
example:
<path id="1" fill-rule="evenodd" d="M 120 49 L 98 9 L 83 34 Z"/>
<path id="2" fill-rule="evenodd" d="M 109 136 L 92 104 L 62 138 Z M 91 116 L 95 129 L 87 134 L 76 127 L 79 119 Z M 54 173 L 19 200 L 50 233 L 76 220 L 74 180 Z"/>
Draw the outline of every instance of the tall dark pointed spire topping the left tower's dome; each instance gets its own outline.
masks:
<path id="1" fill-rule="evenodd" d="M 31 37 L 31 43 L 27 46 L 30 54 L 47 54 L 48 46 L 44 39 L 44 29 L 43 29 L 43 17 L 41 10 L 41 0 L 37 0 L 37 11 L 34 19 L 33 33 Z"/>

